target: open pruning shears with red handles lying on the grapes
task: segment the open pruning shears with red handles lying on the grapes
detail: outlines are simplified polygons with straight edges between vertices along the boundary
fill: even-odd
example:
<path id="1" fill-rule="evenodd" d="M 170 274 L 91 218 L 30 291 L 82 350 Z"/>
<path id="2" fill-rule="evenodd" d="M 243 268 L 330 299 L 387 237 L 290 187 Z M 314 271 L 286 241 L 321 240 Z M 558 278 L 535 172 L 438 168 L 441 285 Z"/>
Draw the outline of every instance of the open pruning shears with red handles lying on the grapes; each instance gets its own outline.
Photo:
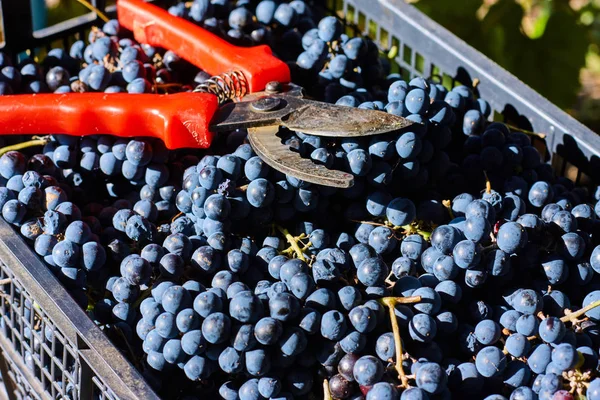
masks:
<path id="1" fill-rule="evenodd" d="M 217 132 L 248 130 L 268 165 L 307 182 L 350 187 L 353 176 L 290 150 L 279 127 L 310 135 L 357 137 L 405 128 L 411 121 L 383 111 L 309 100 L 269 46 L 238 47 L 142 0 L 118 0 L 122 27 L 140 43 L 175 52 L 214 75 L 193 92 L 65 93 L 0 96 L 0 134 L 151 136 L 169 149 L 208 148 Z M 229 101 L 234 100 L 234 101 Z"/>

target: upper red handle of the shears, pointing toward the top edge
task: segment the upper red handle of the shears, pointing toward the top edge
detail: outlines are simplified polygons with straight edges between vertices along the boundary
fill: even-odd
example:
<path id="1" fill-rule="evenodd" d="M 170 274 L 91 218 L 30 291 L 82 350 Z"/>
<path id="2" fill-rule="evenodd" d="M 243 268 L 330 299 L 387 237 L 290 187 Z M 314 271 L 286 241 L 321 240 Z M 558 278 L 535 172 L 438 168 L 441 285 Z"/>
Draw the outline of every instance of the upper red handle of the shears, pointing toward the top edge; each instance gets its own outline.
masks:
<path id="1" fill-rule="evenodd" d="M 132 30 L 138 42 L 172 50 L 211 75 L 242 71 L 251 92 L 264 90 L 271 81 L 290 81 L 288 66 L 273 56 L 269 46 L 234 46 L 142 0 L 118 0 L 117 14 L 119 24 Z"/>

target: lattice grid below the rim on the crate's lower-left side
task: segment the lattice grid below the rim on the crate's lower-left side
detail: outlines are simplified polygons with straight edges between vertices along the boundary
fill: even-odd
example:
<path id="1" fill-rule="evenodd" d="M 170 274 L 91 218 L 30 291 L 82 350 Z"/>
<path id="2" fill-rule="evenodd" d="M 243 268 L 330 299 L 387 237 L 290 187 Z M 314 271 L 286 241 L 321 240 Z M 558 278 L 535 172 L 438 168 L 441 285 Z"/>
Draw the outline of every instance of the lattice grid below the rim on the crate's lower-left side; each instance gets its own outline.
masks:
<path id="1" fill-rule="evenodd" d="M 13 270 L 0 263 L 0 347 L 9 366 L 7 389 L 21 398 L 113 399 L 114 395 L 97 377 L 93 388 L 86 381 L 86 366 L 77 346 L 37 304 Z"/>

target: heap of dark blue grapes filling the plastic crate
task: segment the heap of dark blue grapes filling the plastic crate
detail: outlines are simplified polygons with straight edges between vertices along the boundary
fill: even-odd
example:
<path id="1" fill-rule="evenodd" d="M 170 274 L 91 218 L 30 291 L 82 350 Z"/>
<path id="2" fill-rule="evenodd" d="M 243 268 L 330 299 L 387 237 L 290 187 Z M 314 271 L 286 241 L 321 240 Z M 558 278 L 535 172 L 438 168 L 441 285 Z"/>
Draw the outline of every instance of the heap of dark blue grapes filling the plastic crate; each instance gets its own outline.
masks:
<path id="1" fill-rule="evenodd" d="M 318 100 L 415 124 L 281 130 L 290 151 L 352 173 L 348 189 L 273 170 L 244 130 L 207 150 L 143 132 L 0 150 L 2 217 L 161 396 L 600 399 L 598 186 L 556 176 L 535 134 L 490 123 L 476 88 L 392 73 L 372 40 L 309 3 L 169 12 L 270 45 Z M 209 78 L 114 20 L 87 39 L 41 63 L 1 56 L 1 93 L 173 93 Z"/>

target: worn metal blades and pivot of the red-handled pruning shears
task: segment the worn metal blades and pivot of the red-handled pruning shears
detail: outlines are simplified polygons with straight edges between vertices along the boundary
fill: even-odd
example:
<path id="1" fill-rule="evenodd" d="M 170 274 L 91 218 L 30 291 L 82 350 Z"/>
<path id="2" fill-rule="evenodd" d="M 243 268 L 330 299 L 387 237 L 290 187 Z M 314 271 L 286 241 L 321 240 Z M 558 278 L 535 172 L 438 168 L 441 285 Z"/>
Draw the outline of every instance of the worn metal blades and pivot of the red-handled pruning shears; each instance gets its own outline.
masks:
<path id="1" fill-rule="evenodd" d="M 276 170 L 306 182 L 348 188 L 354 183 L 352 174 L 300 157 L 276 136 L 279 127 L 317 136 L 361 137 L 397 131 L 412 124 L 382 111 L 343 107 L 284 93 L 225 104 L 217 111 L 211 129 L 247 128 L 256 154 Z"/>

